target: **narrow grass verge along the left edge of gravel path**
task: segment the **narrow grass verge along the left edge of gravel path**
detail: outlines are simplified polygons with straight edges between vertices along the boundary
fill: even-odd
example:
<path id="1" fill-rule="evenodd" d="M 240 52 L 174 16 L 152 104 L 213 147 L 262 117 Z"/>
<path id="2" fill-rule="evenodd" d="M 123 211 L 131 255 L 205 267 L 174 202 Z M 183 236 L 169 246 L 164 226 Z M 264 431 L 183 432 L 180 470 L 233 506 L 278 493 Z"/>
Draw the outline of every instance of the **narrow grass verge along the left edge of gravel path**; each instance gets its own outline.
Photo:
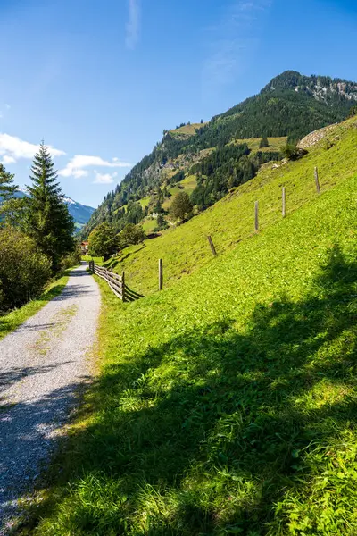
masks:
<path id="1" fill-rule="evenodd" d="M 47 302 L 59 296 L 67 284 L 70 272 L 71 269 L 66 270 L 60 279 L 50 283 L 45 292 L 40 297 L 37 297 L 37 299 L 32 299 L 25 306 L 15 309 L 11 313 L 4 314 L 4 316 L 0 316 L 0 339 L 4 339 L 8 333 L 16 330 L 22 322 L 25 322 L 30 316 L 33 316 L 37 311 L 42 309 L 43 306 L 46 306 Z"/>

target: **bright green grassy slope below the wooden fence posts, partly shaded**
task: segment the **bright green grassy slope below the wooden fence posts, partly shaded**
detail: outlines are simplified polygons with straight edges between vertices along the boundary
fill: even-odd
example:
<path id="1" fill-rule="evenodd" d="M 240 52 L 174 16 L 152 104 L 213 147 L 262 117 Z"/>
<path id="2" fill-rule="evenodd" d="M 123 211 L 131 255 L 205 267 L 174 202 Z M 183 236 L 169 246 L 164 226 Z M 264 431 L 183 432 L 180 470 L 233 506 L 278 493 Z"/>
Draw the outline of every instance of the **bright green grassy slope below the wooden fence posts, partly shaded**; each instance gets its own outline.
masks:
<path id="1" fill-rule="evenodd" d="M 129 305 L 102 284 L 93 415 L 29 532 L 357 532 L 357 175 L 315 197 L 302 165 L 310 200 L 190 278 Z"/>

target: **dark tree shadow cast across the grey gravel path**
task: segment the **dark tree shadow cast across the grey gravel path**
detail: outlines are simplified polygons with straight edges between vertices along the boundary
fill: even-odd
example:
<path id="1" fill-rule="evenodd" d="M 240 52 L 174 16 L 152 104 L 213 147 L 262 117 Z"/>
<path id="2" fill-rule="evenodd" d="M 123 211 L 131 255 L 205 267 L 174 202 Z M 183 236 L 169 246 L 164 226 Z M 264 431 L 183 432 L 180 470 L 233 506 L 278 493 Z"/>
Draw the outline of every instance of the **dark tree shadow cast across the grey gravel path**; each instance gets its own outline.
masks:
<path id="1" fill-rule="evenodd" d="M 0 388 L 8 388 L 25 376 L 48 373 L 60 365 L 14 367 L 0 378 Z M 83 381 L 87 381 L 83 377 Z M 0 405 L 0 531 L 17 514 L 19 499 L 33 490 L 39 473 L 48 466 L 58 447 L 57 432 L 78 403 L 79 388 L 72 382 L 42 398 Z M 3 533 L 3 532 L 2 532 Z"/>

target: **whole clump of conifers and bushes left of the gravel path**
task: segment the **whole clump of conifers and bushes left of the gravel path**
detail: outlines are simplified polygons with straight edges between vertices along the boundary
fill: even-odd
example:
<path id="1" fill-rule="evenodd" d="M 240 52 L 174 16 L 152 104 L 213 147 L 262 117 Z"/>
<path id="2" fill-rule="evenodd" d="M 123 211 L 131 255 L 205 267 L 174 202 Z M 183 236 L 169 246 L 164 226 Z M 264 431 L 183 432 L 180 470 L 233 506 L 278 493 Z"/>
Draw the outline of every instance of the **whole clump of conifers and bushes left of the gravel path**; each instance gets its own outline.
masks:
<path id="1" fill-rule="evenodd" d="M 0 314 L 38 294 L 75 250 L 74 222 L 43 142 L 29 178 L 29 197 L 14 197 L 14 177 L 0 164 Z"/>

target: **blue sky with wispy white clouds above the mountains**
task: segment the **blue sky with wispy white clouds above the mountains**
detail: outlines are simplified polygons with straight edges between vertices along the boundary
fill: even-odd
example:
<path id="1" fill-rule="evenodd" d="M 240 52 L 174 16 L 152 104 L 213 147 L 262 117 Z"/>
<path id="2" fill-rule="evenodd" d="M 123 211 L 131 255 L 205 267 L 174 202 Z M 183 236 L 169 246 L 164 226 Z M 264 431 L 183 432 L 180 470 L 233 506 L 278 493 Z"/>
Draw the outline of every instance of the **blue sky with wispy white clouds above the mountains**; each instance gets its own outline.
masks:
<path id="1" fill-rule="evenodd" d="M 279 72 L 357 80 L 355 0 L 0 0 L 0 159 L 21 186 L 42 138 L 98 205 L 182 121 Z"/>

